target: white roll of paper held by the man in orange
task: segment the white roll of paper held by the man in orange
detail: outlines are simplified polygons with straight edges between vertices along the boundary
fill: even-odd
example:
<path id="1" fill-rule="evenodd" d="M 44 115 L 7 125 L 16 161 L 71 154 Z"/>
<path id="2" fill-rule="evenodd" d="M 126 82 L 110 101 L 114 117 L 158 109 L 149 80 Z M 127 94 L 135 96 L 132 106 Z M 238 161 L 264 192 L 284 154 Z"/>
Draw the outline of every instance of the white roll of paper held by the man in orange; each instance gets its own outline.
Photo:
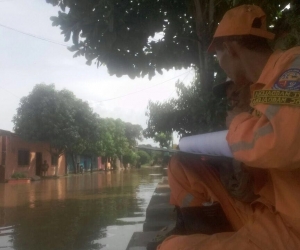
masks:
<path id="1" fill-rule="evenodd" d="M 183 137 L 179 141 L 180 151 L 209 156 L 233 158 L 226 140 L 228 130 Z"/>

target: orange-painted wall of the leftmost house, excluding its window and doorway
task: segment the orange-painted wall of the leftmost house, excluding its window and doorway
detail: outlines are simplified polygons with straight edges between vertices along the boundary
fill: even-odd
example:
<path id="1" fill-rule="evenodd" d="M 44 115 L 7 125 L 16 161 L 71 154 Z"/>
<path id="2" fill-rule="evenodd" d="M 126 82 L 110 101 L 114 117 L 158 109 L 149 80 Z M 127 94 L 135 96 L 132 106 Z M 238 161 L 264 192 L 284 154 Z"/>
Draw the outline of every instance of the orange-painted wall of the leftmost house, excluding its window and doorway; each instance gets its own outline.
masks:
<path id="1" fill-rule="evenodd" d="M 28 142 L 22 140 L 16 135 L 3 135 L 6 137 L 6 159 L 5 159 L 5 179 L 10 179 L 11 175 L 15 172 L 23 172 L 27 177 L 36 176 L 36 153 L 42 154 L 42 162 L 46 160 L 49 164 L 49 170 L 47 172 L 48 176 L 55 174 L 55 166 L 51 165 L 51 154 L 50 145 L 45 142 Z M 2 137 L 0 136 L 0 141 L 2 142 Z M 2 150 L 2 143 L 0 147 L 0 152 Z M 29 153 L 29 164 L 25 166 L 18 165 L 18 151 L 28 150 Z M 0 162 L 1 162 L 0 154 Z M 57 175 L 65 174 L 65 156 L 61 156 L 58 159 L 58 172 Z"/>

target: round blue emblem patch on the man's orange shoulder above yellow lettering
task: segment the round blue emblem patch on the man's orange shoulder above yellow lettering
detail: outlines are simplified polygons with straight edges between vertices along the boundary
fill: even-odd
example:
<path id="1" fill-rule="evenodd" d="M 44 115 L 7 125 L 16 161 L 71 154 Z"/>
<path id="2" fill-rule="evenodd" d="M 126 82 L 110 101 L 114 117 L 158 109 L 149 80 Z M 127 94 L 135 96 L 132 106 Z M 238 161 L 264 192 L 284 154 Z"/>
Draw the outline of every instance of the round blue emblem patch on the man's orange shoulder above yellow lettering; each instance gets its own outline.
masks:
<path id="1" fill-rule="evenodd" d="M 275 82 L 273 89 L 278 90 L 300 90 L 300 69 L 290 68 Z"/>

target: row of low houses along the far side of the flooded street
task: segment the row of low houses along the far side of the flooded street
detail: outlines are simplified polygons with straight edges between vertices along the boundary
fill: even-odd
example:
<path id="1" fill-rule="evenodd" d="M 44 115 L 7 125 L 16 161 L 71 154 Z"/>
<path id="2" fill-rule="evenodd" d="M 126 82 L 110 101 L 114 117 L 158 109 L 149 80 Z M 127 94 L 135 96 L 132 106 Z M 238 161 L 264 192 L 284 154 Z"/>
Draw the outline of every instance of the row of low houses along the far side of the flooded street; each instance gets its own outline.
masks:
<path id="1" fill-rule="evenodd" d="M 50 154 L 49 142 L 25 141 L 15 133 L 0 129 L 0 182 L 10 179 L 14 173 L 24 173 L 28 178 L 42 176 L 45 160 L 49 165 L 47 176 L 105 170 L 101 157 L 76 155 L 73 159 L 70 152 L 58 157 Z"/>

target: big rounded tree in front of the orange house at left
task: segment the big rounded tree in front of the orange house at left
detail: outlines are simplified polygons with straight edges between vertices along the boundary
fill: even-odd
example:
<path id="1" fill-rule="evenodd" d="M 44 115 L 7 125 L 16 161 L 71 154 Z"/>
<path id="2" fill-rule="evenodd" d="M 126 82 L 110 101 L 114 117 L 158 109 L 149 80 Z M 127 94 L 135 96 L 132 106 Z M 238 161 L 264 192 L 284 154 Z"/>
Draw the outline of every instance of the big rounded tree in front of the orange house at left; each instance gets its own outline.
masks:
<path id="1" fill-rule="evenodd" d="M 54 84 L 37 84 L 21 99 L 13 122 L 22 138 L 49 142 L 50 153 L 58 156 L 66 150 L 81 154 L 90 149 L 98 139 L 96 119 L 88 104 L 72 92 L 57 91 Z"/>

